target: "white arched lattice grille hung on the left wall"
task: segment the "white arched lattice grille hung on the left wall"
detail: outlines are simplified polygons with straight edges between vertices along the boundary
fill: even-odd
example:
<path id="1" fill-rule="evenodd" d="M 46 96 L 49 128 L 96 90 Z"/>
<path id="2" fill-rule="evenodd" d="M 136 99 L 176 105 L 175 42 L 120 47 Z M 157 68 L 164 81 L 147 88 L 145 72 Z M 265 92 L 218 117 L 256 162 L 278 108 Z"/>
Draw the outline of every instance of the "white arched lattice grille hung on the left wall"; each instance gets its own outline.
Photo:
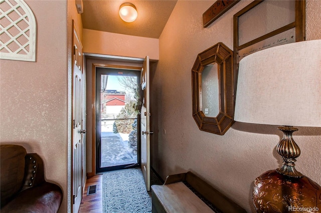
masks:
<path id="1" fill-rule="evenodd" d="M 0 0 L 0 58 L 36 61 L 36 19 L 24 0 Z"/>

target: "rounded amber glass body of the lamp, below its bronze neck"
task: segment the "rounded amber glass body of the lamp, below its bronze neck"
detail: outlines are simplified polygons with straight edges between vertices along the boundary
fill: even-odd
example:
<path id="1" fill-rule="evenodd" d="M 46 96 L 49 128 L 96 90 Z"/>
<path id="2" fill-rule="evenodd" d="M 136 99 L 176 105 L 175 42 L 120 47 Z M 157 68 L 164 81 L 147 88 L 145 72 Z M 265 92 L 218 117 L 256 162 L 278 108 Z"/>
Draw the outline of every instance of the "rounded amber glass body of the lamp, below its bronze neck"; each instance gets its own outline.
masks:
<path id="1" fill-rule="evenodd" d="M 254 181 L 257 212 L 321 212 L 321 186 L 306 176 L 289 177 L 269 170 Z"/>

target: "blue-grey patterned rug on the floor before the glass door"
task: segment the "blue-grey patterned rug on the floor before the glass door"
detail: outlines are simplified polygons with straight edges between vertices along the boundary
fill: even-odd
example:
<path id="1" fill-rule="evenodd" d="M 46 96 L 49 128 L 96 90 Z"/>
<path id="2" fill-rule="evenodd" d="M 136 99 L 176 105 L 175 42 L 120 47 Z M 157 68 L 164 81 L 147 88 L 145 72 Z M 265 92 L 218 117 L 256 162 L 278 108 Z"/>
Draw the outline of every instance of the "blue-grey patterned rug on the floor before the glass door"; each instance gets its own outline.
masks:
<path id="1" fill-rule="evenodd" d="M 140 168 L 104 172 L 102 199 L 104 213 L 151 212 L 151 197 Z"/>

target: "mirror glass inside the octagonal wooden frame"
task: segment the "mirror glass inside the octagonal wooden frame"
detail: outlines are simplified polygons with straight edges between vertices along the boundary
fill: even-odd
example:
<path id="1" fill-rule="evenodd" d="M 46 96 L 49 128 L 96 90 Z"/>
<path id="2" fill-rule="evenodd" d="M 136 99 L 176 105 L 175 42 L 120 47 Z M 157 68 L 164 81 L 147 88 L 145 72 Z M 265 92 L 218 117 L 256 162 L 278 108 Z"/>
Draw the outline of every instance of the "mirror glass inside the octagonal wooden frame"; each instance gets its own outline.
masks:
<path id="1" fill-rule="evenodd" d="M 218 64 L 210 63 L 202 71 L 202 105 L 200 110 L 207 117 L 216 117 L 219 113 Z"/>

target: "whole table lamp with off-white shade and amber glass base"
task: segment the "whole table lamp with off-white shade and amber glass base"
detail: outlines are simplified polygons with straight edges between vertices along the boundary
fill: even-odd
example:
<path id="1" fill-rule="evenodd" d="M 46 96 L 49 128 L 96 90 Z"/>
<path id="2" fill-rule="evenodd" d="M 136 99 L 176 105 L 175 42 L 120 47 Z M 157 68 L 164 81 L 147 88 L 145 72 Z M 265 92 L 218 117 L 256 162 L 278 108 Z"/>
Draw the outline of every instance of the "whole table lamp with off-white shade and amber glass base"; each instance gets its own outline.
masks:
<path id="1" fill-rule="evenodd" d="M 321 212 L 321 186 L 295 169 L 300 148 L 292 138 L 298 130 L 293 126 L 321 126 L 321 40 L 278 45 L 241 59 L 234 119 L 282 125 L 276 149 L 283 165 L 255 179 L 257 212 Z"/>

